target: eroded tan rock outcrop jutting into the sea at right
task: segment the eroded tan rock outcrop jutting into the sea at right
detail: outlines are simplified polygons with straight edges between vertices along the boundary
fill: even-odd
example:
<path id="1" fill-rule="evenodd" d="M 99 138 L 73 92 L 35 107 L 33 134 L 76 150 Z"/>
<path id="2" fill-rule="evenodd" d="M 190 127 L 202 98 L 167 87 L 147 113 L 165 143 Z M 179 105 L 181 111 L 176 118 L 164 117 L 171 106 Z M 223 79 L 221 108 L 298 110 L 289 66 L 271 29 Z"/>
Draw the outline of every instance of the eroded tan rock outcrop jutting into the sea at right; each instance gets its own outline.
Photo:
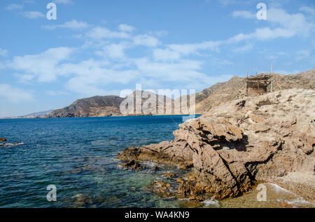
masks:
<path id="1" fill-rule="evenodd" d="M 313 173 L 315 91 L 289 89 L 224 103 L 179 125 L 174 135 L 171 142 L 125 149 L 118 158 L 193 165 L 178 193 L 194 200 L 235 197 L 288 172 Z"/>

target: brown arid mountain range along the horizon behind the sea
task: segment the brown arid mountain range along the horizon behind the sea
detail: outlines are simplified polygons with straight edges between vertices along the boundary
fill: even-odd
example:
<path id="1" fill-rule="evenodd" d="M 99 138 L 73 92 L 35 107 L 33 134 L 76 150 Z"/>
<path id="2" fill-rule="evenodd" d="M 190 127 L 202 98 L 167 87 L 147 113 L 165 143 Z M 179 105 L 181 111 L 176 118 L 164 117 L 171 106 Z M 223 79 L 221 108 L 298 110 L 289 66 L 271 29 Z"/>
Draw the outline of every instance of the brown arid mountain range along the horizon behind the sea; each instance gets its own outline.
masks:
<path id="1" fill-rule="evenodd" d="M 295 75 L 273 74 L 272 79 L 272 87 L 274 91 L 293 88 L 315 89 L 315 68 Z M 135 92 L 136 91 L 130 96 L 134 95 Z M 141 93 L 143 93 L 143 91 L 141 91 Z M 158 95 L 155 96 L 157 98 L 158 109 L 158 101 L 161 100 L 161 98 Z M 202 90 L 200 93 L 195 94 L 196 113 L 203 114 L 214 106 L 243 96 L 245 96 L 245 78 L 234 76 L 227 82 L 216 83 L 213 86 Z M 164 96 L 165 105 L 167 104 L 166 98 L 167 97 Z M 120 104 L 124 100 L 125 98 L 121 98 L 120 96 L 93 96 L 90 98 L 81 98 L 62 109 L 35 112 L 17 118 L 121 116 L 123 114 L 120 113 Z M 176 100 L 181 100 L 181 98 L 176 98 Z M 175 101 L 171 98 L 169 98 L 169 101 L 173 106 L 172 114 L 181 114 L 181 110 L 176 110 L 174 112 Z M 142 98 L 141 105 L 144 105 L 144 103 L 146 103 L 146 99 Z M 142 111 L 141 114 L 151 114 L 148 110 Z"/>

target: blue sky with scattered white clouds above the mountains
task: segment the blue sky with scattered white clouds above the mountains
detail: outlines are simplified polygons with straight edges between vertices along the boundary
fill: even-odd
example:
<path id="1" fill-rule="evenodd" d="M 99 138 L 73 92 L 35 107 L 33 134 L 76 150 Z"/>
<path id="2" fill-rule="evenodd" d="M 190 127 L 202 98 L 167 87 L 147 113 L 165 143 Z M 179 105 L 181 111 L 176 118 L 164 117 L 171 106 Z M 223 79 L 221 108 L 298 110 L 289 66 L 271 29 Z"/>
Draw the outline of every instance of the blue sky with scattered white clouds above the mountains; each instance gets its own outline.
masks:
<path id="1" fill-rule="evenodd" d="M 315 67 L 314 0 L 1 0 L 0 32 L 0 117 Z"/>

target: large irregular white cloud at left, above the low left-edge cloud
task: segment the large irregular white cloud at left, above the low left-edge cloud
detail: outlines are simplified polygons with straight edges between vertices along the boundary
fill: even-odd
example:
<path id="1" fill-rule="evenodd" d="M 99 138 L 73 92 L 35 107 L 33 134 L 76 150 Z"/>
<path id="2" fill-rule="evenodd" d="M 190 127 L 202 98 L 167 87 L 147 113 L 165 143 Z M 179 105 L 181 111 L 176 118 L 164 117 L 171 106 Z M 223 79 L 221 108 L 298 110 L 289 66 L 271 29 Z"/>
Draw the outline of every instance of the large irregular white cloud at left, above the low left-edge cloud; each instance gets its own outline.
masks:
<path id="1" fill-rule="evenodd" d="M 61 61 L 69 59 L 71 52 L 73 49 L 69 47 L 57 47 L 41 54 L 14 57 L 13 61 L 8 64 L 8 68 L 24 71 L 25 74 L 21 74 L 22 80 L 29 78 L 29 75 L 34 75 L 39 82 L 51 82 L 56 80 L 57 75 L 60 75 L 57 66 Z"/>

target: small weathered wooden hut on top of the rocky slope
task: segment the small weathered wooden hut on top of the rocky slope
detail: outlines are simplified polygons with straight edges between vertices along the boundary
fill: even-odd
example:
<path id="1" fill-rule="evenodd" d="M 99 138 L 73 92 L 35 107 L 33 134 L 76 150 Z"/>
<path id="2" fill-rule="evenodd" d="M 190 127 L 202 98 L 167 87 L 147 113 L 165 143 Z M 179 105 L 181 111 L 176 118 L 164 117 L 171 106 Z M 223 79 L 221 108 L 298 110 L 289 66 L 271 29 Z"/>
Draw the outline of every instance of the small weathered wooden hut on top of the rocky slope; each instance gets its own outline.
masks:
<path id="1" fill-rule="evenodd" d="M 267 87 L 270 84 L 270 91 L 272 91 L 272 74 L 261 73 L 248 77 L 246 74 L 246 96 L 253 94 L 267 93 Z"/>

